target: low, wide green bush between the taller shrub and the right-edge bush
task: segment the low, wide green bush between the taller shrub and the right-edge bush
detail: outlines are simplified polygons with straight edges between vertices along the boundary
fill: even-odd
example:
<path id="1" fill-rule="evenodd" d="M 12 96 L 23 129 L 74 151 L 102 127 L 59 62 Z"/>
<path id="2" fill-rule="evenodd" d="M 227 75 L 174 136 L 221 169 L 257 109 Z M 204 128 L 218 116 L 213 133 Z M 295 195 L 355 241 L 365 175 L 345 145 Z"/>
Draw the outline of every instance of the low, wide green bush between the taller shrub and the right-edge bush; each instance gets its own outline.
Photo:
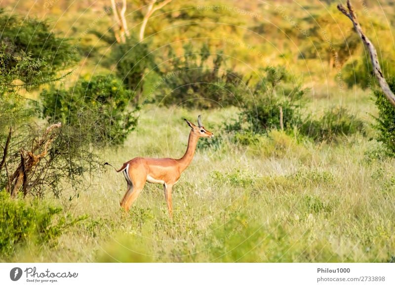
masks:
<path id="1" fill-rule="evenodd" d="M 319 119 L 309 117 L 299 127 L 300 134 L 316 142 L 333 141 L 339 135 L 364 134 L 365 125 L 344 107 L 332 107 Z"/>

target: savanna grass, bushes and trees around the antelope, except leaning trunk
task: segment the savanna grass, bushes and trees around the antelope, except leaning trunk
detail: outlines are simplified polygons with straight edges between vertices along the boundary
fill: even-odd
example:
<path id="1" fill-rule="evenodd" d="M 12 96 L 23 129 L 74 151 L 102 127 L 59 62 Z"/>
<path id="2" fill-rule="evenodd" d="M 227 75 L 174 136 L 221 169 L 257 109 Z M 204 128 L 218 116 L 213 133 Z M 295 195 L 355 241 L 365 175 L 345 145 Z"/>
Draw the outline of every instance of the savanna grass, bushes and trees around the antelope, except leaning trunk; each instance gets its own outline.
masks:
<path id="1" fill-rule="evenodd" d="M 394 262 L 395 108 L 337 1 L 0 4 L 2 262 Z M 354 1 L 395 91 L 393 1 Z M 130 211 L 119 168 L 180 158 Z"/>

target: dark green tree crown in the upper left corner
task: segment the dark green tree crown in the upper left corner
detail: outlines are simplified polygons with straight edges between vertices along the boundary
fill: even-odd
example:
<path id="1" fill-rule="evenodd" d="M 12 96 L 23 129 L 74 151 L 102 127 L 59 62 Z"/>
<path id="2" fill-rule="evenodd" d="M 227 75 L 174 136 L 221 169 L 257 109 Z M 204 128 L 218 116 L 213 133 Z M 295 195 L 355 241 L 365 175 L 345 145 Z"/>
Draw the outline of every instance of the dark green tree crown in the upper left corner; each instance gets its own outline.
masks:
<path id="1" fill-rule="evenodd" d="M 0 10 L 0 31 L 1 84 L 48 82 L 78 59 L 69 40 L 57 37 L 45 21 Z"/>

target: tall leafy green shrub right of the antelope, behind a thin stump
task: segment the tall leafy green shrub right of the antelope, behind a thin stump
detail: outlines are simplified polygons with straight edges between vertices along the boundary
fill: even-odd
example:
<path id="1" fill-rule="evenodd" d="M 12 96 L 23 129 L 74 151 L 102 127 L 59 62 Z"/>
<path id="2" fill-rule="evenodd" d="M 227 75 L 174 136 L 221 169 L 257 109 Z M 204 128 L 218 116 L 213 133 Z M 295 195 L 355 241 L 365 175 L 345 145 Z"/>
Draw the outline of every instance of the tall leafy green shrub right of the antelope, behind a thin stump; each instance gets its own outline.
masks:
<path id="1" fill-rule="evenodd" d="M 255 133 L 267 133 L 271 129 L 292 130 L 301 123 L 305 90 L 289 82 L 283 67 L 267 67 L 262 78 L 252 88 L 253 98 L 245 98 L 242 111 L 233 123 L 226 123 L 225 130 L 234 133 L 241 143 L 255 142 Z M 241 134 L 241 135 L 240 135 Z"/>

